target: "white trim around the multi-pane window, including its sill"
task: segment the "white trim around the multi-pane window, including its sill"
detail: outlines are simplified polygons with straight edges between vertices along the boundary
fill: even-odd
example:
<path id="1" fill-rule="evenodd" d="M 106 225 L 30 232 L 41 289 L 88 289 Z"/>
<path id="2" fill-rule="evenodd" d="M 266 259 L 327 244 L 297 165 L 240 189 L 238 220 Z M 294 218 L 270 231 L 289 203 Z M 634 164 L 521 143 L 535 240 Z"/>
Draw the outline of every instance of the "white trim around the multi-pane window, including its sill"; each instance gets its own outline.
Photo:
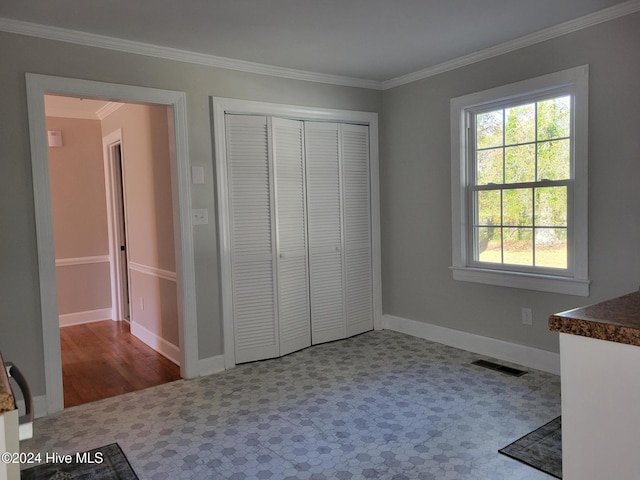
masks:
<path id="1" fill-rule="evenodd" d="M 573 204 L 569 251 L 573 268 L 567 275 L 497 270 L 471 266 L 469 258 L 467 200 L 467 112 L 486 103 L 517 100 L 558 88 L 569 88 L 574 95 Z M 454 280 L 524 288 L 568 295 L 589 296 L 587 249 L 587 127 L 589 66 L 570 68 L 522 82 L 492 88 L 451 99 L 451 212 Z"/>

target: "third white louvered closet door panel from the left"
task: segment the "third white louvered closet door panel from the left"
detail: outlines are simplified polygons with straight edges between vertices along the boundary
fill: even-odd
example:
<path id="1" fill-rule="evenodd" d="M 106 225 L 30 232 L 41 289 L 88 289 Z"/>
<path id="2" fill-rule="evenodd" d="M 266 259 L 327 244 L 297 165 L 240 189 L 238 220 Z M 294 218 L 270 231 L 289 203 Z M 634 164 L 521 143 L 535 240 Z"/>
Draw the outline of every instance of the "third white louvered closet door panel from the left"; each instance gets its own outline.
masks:
<path id="1" fill-rule="evenodd" d="M 339 125 L 305 122 L 312 343 L 345 338 Z"/>

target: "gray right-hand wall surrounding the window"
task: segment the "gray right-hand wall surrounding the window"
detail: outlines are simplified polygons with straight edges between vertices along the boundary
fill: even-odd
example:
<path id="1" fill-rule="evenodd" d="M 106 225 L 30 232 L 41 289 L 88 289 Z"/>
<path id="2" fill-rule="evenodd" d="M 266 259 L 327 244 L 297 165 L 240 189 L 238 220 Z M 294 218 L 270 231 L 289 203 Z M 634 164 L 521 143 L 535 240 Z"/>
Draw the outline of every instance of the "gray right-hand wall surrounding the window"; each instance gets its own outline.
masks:
<path id="1" fill-rule="evenodd" d="M 640 14 L 634 14 L 383 94 L 381 217 L 387 314 L 558 351 L 557 311 L 640 284 Z M 452 279 L 449 101 L 590 65 L 590 297 Z M 523 326 L 521 307 L 533 309 Z"/>

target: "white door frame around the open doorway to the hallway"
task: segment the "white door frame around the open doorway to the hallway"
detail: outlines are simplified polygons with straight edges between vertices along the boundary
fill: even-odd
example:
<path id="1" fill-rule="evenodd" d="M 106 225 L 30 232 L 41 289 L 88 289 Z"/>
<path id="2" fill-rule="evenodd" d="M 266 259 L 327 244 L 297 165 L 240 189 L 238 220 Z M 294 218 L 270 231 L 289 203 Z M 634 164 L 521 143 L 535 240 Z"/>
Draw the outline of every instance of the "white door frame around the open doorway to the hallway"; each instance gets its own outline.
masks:
<path id="1" fill-rule="evenodd" d="M 51 186 L 47 152 L 44 95 L 68 95 L 109 101 L 150 103 L 172 107 L 169 128 L 176 276 L 178 287 L 178 322 L 180 340 L 180 374 L 197 376 L 198 339 L 195 297 L 195 265 L 191 225 L 191 183 L 187 149 L 187 101 L 184 92 L 119 85 L 75 78 L 26 74 L 31 169 L 38 247 L 40 308 L 44 349 L 44 373 L 47 413 L 64 408 L 62 360 L 56 292 Z"/>

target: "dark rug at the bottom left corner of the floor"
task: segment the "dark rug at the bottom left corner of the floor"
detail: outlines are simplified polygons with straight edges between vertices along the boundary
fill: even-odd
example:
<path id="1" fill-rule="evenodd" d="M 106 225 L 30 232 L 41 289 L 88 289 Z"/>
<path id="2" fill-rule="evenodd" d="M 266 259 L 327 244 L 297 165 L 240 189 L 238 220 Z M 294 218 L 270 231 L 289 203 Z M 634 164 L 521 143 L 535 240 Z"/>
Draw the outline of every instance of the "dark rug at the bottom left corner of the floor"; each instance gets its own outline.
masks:
<path id="1" fill-rule="evenodd" d="M 43 454 L 44 455 L 44 454 Z M 67 457 L 68 458 L 68 457 Z M 22 480 L 138 480 L 120 445 L 112 443 L 22 471 Z"/>

